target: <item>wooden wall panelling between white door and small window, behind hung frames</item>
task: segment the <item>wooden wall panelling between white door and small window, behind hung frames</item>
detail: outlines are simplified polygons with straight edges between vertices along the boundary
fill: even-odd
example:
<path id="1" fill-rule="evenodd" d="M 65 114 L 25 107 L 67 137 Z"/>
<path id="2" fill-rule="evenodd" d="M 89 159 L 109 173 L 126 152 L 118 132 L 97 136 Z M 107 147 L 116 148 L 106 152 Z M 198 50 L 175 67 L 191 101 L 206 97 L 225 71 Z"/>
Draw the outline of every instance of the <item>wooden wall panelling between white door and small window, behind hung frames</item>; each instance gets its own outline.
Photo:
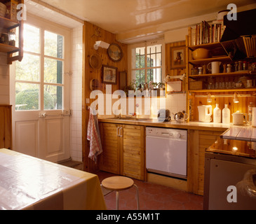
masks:
<path id="1" fill-rule="evenodd" d="M 95 50 L 93 48 L 95 41 L 105 41 L 106 43 L 117 43 L 123 50 L 123 58 L 119 62 L 113 62 L 107 55 L 107 49 L 98 48 Z M 98 169 L 98 165 L 95 162 L 88 159 L 89 147 L 86 140 L 86 132 L 88 126 L 88 116 L 89 111 L 86 106 L 90 104 L 95 99 L 90 99 L 90 80 L 97 78 L 100 80 L 100 90 L 105 93 L 106 85 L 102 83 L 102 69 L 93 69 L 90 66 L 90 56 L 93 54 L 100 55 L 102 58 L 102 64 L 108 66 L 117 67 L 117 85 L 112 85 L 112 92 L 119 90 L 119 72 L 128 70 L 128 59 L 127 59 L 127 45 L 119 43 L 116 41 L 116 35 L 101 29 L 95 25 L 85 22 L 83 26 L 83 102 L 82 102 L 82 134 L 83 134 L 83 164 L 86 171 L 92 171 Z M 86 99 L 90 99 L 90 104 L 86 105 Z"/>

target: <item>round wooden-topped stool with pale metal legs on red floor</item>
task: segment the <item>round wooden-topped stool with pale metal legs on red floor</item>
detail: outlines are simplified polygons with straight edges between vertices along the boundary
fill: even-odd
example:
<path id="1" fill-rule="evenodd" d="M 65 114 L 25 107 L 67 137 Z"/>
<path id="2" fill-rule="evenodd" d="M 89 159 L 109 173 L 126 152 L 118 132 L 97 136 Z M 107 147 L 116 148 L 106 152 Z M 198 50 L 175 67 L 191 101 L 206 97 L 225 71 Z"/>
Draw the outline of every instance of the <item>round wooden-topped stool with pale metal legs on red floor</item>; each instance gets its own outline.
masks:
<path id="1" fill-rule="evenodd" d="M 139 207 L 139 190 L 132 179 L 125 176 L 112 176 L 102 181 L 102 186 L 107 190 L 116 191 L 116 210 L 119 210 L 119 190 L 127 190 L 133 186 L 136 188 L 137 210 Z"/>

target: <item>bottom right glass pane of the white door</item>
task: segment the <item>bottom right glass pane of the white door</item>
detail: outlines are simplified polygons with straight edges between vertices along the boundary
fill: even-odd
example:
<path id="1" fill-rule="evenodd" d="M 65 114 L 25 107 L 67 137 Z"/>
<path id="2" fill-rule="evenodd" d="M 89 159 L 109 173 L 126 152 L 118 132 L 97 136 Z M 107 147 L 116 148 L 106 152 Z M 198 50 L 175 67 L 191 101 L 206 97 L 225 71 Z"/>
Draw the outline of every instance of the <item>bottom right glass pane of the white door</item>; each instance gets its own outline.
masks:
<path id="1" fill-rule="evenodd" d="M 43 105 L 45 110 L 62 110 L 62 87 L 44 85 Z"/>

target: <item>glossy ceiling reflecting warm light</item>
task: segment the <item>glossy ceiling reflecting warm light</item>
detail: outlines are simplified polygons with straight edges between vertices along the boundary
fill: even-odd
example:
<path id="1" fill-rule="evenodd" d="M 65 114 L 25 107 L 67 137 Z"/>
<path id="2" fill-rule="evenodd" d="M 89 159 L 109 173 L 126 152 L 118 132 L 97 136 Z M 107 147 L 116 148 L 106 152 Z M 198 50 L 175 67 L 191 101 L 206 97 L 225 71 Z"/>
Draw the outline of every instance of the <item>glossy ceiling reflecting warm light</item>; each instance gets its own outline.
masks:
<path id="1" fill-rule="evenodd" d="M 32 0 L 48 3 L 64 12 L 86 20 L 113 34 L 140 34 L 154 27 L 195 18 L 227 9 L 229 3 L 237 7 L 255 0 Z M 171 29 L 171 27 L 170 27 Z M 161 32 L 160 28 L 157 29 Z"/>

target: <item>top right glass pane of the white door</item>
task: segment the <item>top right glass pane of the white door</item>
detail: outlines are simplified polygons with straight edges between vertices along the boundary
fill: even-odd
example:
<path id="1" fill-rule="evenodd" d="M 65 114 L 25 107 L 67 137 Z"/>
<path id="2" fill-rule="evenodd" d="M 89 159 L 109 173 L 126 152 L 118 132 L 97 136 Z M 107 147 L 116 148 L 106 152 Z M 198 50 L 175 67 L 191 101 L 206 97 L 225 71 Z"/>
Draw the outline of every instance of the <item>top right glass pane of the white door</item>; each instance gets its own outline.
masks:
<path id="1" fill-rule="evenodd" d="M 63 36 L 44 31 L 44 55 L 63 58 Z"/>

